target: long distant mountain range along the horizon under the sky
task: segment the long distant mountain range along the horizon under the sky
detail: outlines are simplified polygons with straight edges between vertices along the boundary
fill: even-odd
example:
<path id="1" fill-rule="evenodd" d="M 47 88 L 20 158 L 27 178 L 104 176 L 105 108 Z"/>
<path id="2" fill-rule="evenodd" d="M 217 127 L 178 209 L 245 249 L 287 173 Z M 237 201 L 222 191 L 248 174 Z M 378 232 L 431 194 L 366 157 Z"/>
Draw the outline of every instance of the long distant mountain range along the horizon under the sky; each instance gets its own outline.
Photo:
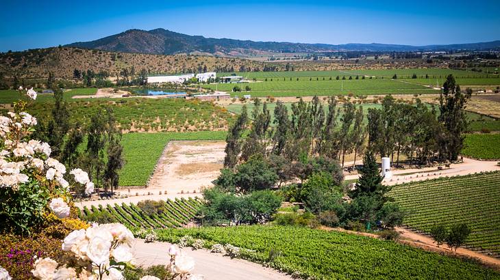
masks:
<path id="1" fill-rule="evenodd" d="M 500 49 L 500 40 L 472 44 L 409 46 L 399 44 L 303 44 L 290 42 L 255 42 L 250 40 L 216 39 L 190 36 L 166 29 L 149 31 L 130 29 L 125 32 L 89 42 L 66 46 L 92 48 L 125 53 L 173 55 L 202 53 L 205 55 L 249 56 L 266 53 L 321 53 L 349 51 L 444 51 Z"/>

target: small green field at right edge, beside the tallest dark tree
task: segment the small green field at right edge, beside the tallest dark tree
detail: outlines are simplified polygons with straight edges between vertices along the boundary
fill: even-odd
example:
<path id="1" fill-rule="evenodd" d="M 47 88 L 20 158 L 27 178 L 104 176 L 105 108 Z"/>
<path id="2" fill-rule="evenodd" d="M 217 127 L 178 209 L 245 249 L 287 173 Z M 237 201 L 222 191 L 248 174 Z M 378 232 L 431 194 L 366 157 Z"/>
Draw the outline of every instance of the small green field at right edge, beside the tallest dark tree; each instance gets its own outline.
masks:
<path id="1" fill-rule="evenodd" d="M 467 135 L 462 154 L 473 158 L 500 159 L 500 134 Z"/>

